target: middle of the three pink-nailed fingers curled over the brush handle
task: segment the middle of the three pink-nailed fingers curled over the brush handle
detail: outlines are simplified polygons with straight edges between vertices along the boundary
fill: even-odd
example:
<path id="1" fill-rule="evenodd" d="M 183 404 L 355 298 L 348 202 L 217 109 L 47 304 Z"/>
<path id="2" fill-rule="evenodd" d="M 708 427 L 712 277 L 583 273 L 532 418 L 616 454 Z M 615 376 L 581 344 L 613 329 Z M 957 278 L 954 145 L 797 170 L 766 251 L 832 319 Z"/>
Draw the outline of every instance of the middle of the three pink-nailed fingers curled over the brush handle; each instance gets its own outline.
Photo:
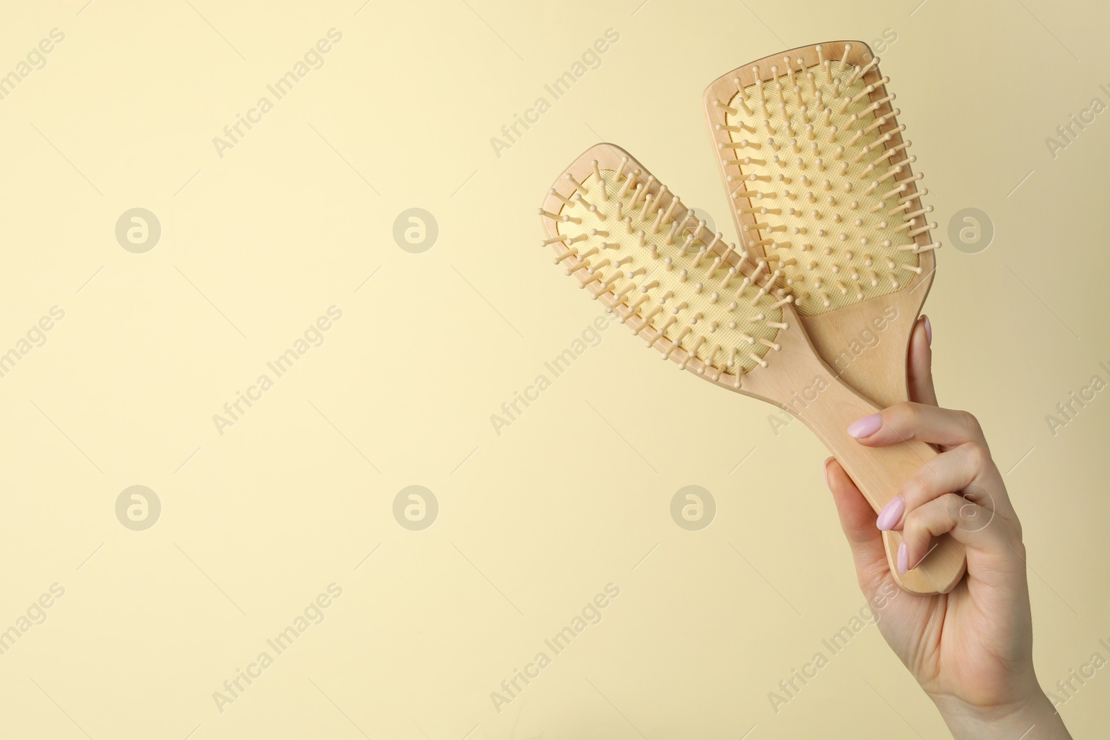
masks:
<path id="1" fill-rule="evenodd" d="M 967 491 L 968 498 L 992 511 L 999 506 L 1005 511 L 1012 510 L 1006 486 L 990 454 L 969 442 L 940 453 L 918 468 L 879 511 L 876 527 L 899 529 L 916 508 L 959 491 Z"/>

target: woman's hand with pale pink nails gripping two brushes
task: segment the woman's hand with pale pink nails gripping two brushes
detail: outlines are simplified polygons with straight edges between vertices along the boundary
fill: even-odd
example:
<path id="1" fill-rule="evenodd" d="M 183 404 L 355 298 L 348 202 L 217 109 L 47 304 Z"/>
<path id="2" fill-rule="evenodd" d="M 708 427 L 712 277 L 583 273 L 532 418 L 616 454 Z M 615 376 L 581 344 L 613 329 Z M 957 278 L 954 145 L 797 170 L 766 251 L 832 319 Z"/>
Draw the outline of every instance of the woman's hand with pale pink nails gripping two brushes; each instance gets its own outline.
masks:
<path id="1" fill-rule="evenodd" d="M 934 700 L 956 738 L 1070 738 L 1037 682 L 1021 524 L 982 429 L 967 412 L 937 407 L 931 327 L 922 317 L 909 351 L 911 403 L 860 419 L 848 433 L 868 447 L 919 439 L 940 455 L 907 480 L 876 516 L 829 458 L 825 474 L 856 562 L 859 587 L 884 604 L 882 637 Z M 949 594 L 900 592 L 881 529 L 902 533 L 898 566 L 912 568 L 930 537 L 951 533 L 967 548 L 967 576 Z"/>

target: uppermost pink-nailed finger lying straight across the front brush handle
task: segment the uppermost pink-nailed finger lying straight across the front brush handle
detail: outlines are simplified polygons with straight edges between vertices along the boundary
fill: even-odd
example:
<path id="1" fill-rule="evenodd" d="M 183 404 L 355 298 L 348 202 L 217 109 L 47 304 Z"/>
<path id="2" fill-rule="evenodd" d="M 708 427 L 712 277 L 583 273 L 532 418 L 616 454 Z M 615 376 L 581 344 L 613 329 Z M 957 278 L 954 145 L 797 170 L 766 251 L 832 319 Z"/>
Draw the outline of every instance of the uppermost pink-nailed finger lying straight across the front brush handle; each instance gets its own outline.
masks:
<path id="1" fill-rule="evenodd" d="M 868 447 L 919 439 L 946 447 L 972 442 L 987 448 L 979 420 L 971 414 L 912 402 L 865 416 L 848 427 L 848 434 Z"/>

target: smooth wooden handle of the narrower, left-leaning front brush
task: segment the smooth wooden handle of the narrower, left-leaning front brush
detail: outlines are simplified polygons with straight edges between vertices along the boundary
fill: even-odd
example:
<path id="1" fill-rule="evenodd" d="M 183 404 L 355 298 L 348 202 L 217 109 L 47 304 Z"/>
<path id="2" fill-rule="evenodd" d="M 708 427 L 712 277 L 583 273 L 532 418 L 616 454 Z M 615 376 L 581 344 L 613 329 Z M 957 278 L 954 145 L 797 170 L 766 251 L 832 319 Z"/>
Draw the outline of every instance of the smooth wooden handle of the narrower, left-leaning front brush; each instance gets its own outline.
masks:
<path id="1" fill-rule="evenodd" d="M 815 378 L 816 379 L 816 378 Z M 831 374 L 824 378 L 823 389 L 810 387 L 809 394 L 795 396 L 797 408 L 788 408 L 820 437 L 825 446 L 840 463 L 845 472 L 867 498 L 876 511 L 898 493 L 899 486 L 908 480 L 921 466 L 937 457 L 937 452 L 924 442 L 907 440 L 887 447 L 865 447 L 848 436 L 848 425 L 865 416 L 879 413 L 879 407 L 864 398 Z M 808 397 L 816 394 L 811 402 Z M 805 407 L 801 407 L 805 403 Z M 899 538 L 900 541 L 900 538 Z M 897 550 L 887 540 L 887 562 L 898 576 Z M 963 546 L 950 535 L 934 539 L 929 555 L 915 568 L 918 592 L 947 594 L 960 581 L 967 570 Z M 914 572 L 914 571 L 910 571 Z M 921 582 L 924 581 L 924 582 Z M 928 590 L 926 590 L 928 589 Z"/>

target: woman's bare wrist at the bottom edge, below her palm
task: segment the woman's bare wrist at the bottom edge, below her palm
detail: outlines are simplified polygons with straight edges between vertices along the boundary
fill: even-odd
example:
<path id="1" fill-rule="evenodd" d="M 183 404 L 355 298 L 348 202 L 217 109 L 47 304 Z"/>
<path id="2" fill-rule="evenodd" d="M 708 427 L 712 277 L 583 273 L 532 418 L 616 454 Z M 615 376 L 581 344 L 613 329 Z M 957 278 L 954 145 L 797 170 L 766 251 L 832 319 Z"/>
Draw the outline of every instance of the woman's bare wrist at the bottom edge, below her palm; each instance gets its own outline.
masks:
<path id="1" fill-rule="evenodd" d="M 932 701 L 956 740 L 1071 740 L 1040 688 L 1025 701 L 995 707 L 977 707 L 953 697 L 934 697 Z"/>

